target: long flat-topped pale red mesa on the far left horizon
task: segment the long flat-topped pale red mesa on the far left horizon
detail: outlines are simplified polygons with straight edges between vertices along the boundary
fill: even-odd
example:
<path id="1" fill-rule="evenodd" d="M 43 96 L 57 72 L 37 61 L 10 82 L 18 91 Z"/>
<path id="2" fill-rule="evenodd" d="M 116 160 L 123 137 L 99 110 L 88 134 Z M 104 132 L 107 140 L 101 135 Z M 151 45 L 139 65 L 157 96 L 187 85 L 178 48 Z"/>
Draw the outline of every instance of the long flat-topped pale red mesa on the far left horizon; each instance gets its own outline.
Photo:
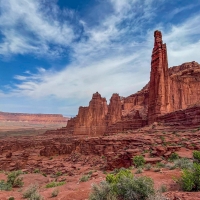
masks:
<path id="1" fill-rule="evenodd" d="M 0 112 L 0 121 L 67 122 L 69 118 L 59 114 L 28 114 Z"/>

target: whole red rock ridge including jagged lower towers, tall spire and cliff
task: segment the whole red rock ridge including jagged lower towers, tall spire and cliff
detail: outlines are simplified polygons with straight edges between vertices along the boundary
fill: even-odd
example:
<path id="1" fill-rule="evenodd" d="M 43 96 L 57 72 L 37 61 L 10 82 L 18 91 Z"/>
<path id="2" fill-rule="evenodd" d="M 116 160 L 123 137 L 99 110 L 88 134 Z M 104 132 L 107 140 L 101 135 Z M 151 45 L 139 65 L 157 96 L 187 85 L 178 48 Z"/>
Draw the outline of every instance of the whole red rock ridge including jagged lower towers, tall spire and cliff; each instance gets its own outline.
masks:
<path id="1" fill-rule="evenodd" d="M 168 123 L 169 115 L 174 116 L 178 110 L 198 105 L 199 88 L 200 65 L 193 61 L 168 68 L 167 46 L 163 44 L 162 33 L 156 30 L 150 81 L 141 91 L 128 97 L 113 94 L 109 105 L 97 92 L 93 94 L 89 106 L 80 107 L 78 115 L 70 119 L 66 127 L 53 132 L 100 136 L 138 129 L 156 121 Z M 188 110 L 182 112 L 187 113 Z M 182 114 L 182 117 L 184 125 L 187 116 Z M 200 122 L 197 119 L 194 121 Z M 53 132 L 48 131 L 47 134 Z"/>

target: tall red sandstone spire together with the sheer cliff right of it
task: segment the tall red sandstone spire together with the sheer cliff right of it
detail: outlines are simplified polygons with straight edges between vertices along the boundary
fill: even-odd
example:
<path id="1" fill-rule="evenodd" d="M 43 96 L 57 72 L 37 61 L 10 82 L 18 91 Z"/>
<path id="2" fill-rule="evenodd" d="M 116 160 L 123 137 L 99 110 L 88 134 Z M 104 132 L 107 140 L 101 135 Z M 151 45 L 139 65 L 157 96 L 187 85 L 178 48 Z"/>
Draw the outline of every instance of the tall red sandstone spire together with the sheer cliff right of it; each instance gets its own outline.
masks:
<path id="1" fill-rule="evenodd" d="M 188 62 L 168 69 L 167 49 L 160 31 L 154 33 L 149 86 L 148 122 L 200 101 L 200 65 Z"/>

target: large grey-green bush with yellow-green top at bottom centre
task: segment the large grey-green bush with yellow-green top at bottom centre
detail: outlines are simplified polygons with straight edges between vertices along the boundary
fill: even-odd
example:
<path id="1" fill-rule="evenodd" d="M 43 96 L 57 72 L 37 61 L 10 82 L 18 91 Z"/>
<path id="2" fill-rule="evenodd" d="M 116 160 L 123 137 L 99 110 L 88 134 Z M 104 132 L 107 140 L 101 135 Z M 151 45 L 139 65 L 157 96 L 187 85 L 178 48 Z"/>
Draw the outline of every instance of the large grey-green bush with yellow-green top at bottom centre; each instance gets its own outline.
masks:
<path id="1" fill-rule="evenodd" d="M 108 174 L 106 181 L 92 187 L 90 200 L 145 200 L 154 194 L 151 178 L 134 177 L 129 170 Z"/>

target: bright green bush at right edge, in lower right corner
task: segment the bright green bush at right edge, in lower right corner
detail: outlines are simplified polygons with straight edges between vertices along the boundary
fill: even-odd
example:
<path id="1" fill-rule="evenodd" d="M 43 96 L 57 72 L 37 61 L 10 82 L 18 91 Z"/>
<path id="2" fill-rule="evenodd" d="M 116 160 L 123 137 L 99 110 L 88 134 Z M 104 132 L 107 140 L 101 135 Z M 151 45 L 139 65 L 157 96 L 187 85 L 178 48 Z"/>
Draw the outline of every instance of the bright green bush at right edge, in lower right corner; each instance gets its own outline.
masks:
<path id="1" fill-rule="evenodd" d="M 178 182 L 184 191 L 200 191 L 200 164 L 194 163 L 192 169 L 183 169 Z"/>

